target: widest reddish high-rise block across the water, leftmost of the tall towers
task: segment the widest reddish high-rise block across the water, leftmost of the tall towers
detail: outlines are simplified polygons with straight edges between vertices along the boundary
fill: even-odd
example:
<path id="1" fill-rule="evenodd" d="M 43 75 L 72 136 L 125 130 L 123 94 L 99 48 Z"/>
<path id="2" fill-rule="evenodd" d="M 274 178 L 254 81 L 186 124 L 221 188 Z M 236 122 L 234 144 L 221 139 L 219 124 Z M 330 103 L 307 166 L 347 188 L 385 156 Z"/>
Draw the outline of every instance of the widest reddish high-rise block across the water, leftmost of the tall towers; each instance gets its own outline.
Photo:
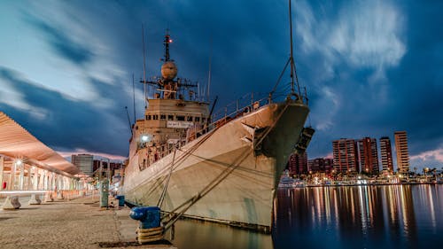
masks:
<path id="1" fill-rule="evenodd" d="M 359 172 L 357 145 L 354 139 L 341 138 L 332 141 L 334 169 L 337 173 Z"/>

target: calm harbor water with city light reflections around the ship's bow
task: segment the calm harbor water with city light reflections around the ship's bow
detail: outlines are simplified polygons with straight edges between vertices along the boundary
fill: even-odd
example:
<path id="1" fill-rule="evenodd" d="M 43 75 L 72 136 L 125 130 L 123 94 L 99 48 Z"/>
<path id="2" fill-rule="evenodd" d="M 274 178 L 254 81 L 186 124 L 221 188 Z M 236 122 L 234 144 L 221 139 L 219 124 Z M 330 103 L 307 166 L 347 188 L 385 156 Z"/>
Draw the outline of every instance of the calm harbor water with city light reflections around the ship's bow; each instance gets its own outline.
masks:
<path id="1" fill-rule="evenodd" d="M 280 189 L 277 198 L 272 235 L 183 220 L 173 243 L 180 249 L 443 245 L 443 185 Z"/>

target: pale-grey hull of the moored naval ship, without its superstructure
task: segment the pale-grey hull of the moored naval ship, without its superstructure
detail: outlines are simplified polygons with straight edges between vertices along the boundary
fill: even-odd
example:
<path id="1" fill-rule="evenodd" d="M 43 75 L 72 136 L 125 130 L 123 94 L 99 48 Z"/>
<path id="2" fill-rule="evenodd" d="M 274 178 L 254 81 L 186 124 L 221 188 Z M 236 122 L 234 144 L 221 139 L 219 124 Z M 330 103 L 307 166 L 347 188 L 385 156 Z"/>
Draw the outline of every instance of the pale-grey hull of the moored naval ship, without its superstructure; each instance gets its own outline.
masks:
<path id="1" fill-rule="evenodd" d="M 174 211 L 199 197 L 185 216 L 269 231 L 280 175 L 298 143 L 307 113 L 307 105 L 295 101 L 262 106 L 142 171 L 136 163 L 143 155 L 129 155 L 125 198 L 136 205 L 158 205 L 170 175 L 163 211 Z"/>

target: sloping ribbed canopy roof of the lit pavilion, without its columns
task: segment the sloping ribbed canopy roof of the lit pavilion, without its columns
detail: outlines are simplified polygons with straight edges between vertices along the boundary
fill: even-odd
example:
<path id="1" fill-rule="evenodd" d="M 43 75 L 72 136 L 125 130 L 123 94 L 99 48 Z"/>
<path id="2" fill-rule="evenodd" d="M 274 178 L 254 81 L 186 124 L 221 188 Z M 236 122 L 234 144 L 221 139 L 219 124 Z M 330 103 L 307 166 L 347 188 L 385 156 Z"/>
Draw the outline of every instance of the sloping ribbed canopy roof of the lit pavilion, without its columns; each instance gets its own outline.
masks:
<path id="1" fill-rule="evenodd" d="M 3 112 L 0 112 L 0 154 L 24 159 L 25 162 L 36 164 L 38 167 L 63 171 L 69 175 L 80 171 Z"/>

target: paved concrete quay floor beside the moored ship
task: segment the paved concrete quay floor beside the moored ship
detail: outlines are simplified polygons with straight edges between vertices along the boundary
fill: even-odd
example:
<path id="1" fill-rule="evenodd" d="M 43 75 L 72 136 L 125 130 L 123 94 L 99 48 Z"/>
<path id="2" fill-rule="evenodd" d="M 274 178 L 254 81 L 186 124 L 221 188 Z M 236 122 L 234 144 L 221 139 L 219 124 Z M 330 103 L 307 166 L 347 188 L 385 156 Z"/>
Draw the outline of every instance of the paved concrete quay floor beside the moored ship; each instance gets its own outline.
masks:
<path id="1" fill-rule="evenodd" d="M 167 241 L 138 245 L 138 223 L 128 216 L 130 209 L 99 207 L 97 196 L 54 200 L 0 210 L 0 248 L 152 248 L 177 249 Z M 114 205 L 118 200 L 113 201 Z M 0 198 L 0 206 L 4 198 Z"/>

